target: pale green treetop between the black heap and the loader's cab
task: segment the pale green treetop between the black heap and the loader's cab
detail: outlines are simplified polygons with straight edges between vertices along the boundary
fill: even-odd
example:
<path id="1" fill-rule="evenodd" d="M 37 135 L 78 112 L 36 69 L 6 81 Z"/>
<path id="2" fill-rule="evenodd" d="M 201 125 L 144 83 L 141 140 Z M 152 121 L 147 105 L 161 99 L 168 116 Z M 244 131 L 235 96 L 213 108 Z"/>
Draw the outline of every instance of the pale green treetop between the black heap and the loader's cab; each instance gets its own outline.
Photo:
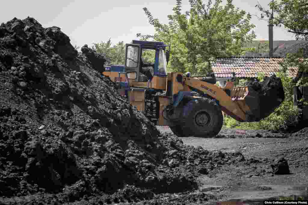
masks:
<path id="1" fill-rule="evenodd" d="M 92 46 L 98 53 L 103 53 L 107 58 L 107 61 L 112 65 L 123 65 L 125 57 L 125 44 L 123 41 L 118 42 L 115 45 L 111 45 L 111 40 L 107 42 L 94 43 Z"/>

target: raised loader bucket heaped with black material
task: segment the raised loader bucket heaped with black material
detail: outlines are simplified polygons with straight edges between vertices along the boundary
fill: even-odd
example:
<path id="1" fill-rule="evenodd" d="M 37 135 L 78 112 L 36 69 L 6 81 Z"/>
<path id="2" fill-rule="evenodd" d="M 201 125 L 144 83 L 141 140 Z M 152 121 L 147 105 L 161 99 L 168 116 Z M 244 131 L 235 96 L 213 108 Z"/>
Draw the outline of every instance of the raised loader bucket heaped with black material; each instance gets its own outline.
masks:
<path id="1" fill-rule="evenodd" d="M 231 97 L 246 113 L 246 121 L 257 122 L 279 107 L 285 93 L 280 78 L 266 77 L 261 83 L 233 88 Z"/>

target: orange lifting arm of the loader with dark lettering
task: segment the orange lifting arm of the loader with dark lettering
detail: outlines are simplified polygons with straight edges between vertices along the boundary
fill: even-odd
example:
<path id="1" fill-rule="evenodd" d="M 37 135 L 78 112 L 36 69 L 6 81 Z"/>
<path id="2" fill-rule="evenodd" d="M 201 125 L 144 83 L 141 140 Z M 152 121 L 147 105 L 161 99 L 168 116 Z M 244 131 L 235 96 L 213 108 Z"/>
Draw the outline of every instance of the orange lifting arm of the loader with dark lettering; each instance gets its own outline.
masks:
<path id="1" fill-rule="evenodd" d="M 198 89 L 219 101 L 221 110 L 234 119 L 240 122 L 247 121 L 246 114 L 240 106 L 223 89 L 217 87 L 215 84 L 203 82 L 193 77 L 184 77 L 183 84 Z"/>

